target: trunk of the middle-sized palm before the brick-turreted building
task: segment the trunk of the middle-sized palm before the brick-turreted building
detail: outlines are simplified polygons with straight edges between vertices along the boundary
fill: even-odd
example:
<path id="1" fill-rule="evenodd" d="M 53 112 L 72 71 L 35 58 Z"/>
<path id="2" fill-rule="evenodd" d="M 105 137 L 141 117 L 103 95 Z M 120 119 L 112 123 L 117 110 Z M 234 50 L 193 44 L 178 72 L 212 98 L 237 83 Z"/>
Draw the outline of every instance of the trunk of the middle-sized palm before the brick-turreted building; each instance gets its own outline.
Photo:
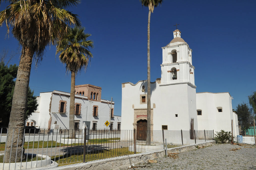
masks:
<path id="1" fill-rule="evenodd" d="M 70 89 L 70 106 L 69 106 L 69 138 L 75 138 L 75 72 L 71 71 L 71 89 Z"/>

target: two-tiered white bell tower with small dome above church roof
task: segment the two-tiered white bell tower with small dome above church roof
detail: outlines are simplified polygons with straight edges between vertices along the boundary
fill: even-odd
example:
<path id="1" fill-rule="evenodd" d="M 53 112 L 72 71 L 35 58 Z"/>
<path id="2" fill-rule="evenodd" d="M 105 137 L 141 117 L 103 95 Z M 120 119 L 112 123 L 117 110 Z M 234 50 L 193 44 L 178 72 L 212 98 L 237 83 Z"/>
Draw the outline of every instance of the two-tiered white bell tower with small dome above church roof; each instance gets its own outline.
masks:
<path id="1" fill-rule="evenodd" d="M 161 85 L 188 84 L 196 88 L 192 65 L 192 49 L 181 38 L 180 30 L 173 31 L 173 40 L 162 47 Z"/>

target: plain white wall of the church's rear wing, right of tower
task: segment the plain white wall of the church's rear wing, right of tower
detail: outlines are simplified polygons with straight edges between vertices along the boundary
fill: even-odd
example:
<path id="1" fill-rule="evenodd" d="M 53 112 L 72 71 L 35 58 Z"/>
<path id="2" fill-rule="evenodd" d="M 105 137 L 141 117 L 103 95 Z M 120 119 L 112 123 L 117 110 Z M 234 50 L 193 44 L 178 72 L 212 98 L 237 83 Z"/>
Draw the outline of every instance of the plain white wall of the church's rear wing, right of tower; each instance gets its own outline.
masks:
<path id="1" fill-rule="evenodd" d="M 197 93 L 196 107 L 202 110 L 202 115 L 197 115 L 197 128 L 231 131 L 231 120 L 233 120 L 233 133 L 239 135 L 237 114 L 232 111 L 231 98 L 228 92 Z M 218 112 L 218 107 L 222 107 L 222 112 Z"/>

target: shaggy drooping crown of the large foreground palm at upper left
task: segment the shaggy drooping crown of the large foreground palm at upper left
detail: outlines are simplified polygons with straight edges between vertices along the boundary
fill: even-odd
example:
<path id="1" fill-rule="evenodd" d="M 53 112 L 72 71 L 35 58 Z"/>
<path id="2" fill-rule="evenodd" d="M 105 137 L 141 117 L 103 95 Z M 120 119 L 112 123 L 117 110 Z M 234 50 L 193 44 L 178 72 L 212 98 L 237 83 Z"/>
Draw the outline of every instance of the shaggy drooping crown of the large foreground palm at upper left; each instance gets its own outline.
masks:
<path id="1" fill-rule="evenodd" d="M 0 0 L 1 1 L 1 0 Z M 64 9 L 76 6 L 80 0 L 10 1 L 0 11 L 0 26 L 12 26 L 14 37 L 22 46 L 34 49 L 39 59 L 50 43 L 54 44 L 72 25 L 81 26 L 78 15 Z"/>

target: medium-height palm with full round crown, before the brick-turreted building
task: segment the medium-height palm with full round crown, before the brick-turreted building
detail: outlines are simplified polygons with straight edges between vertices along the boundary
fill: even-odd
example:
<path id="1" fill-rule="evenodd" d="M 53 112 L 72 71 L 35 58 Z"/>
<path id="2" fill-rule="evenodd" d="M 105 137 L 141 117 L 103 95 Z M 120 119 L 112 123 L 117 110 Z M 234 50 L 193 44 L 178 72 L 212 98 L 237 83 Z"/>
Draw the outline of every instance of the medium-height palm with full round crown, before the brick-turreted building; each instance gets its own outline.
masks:
<path id="1" fill-rule="evenodd" d="M 91 34 L 84 33 L 85 28 L 69 28 L 67 33 L 57 43 L 56 54 L 66 64 L 67 71 L 71 72 L 70 106 L 69 106 L 69 138 L 75 138 L 74 113 L 75 113 L 75 78 L 77 72 L 87 68 L 92 54 L 89 47 L 93 48 L 93 41 L 87 40 Z"/>

